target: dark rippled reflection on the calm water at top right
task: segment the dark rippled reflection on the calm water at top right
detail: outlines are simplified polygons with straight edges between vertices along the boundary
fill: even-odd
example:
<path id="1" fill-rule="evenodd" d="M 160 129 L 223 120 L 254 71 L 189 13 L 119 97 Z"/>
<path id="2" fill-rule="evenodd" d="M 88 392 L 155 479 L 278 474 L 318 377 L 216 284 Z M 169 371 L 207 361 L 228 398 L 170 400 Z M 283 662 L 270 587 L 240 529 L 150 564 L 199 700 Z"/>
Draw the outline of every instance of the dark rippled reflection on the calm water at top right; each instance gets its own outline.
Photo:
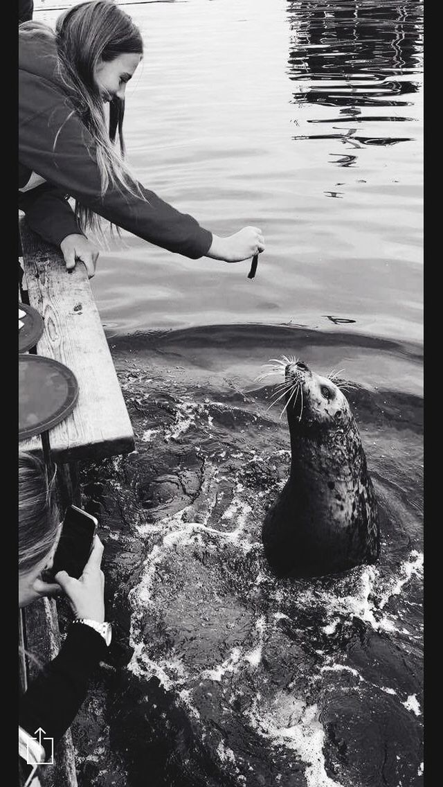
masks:
<path id="1" fill-rule="evenodd" d="M 334 124 L 322 133 L 309 131 L 293 139 L 340 139 L 355 149 L 412 139 L 394 135 L 390 122 L 415 120 L 397 108 L 412 106 L 408 97 L 420 86 L 413 76 L 421 68 L 422 3 L 388 0 L 380 6 L 365 0 L 339 4 L 291 0 L 287 13 L 288 72 L 297 82 L 293 103 L 317 106 L 308 124 Z M 328 110 L 325 116 L 323 108 L 330 107 L 338 113 Z M 364 123 L 377 124 L 375 133 L 364 133 Z M 341 167 L 356 163 L 356 153 L 331 155 Z"/>

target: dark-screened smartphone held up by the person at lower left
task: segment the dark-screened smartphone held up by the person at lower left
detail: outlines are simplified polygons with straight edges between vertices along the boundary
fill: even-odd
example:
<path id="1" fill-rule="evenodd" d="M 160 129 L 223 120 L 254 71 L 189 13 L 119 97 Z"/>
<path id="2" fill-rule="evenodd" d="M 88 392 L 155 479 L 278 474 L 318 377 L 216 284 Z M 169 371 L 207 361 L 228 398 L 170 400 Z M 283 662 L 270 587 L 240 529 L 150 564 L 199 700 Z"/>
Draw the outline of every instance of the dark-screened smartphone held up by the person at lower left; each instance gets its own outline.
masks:
<path id="1" fill-rule="evenodd" d="M 92 551 L 98 520 L 82 508 L 70 505 L 66 509 L 61 536 L 54 555 L 50 574 L 68 571 L 70 577 L 79 579 Z"/>

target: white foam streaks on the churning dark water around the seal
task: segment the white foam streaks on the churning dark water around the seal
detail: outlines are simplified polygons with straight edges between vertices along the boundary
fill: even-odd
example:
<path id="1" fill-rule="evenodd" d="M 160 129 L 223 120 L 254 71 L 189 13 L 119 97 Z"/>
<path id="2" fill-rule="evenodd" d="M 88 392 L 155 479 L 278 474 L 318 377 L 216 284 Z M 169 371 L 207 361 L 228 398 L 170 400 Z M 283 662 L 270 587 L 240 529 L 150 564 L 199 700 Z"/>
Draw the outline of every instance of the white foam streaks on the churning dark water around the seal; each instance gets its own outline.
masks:
<path id="1" fill-rule="evenodd" d="M 195 422 L 198 414 L 203 410 L 202 405 L 191 405 L 183 403 L 179 406 L 175 424 L 169 429 L 166 439 L 176 439 L 180 434 L 183 434 L 190 425 Z M 290 456 L 290 452 L 282 451 L 282 454 Z M 223 452 L 224 455 L 224 452 Z M 233 458 L 235 456 L 242 457 L 243 453 L 230 454 Z M 223 458 L 223 457 L 222 457 Z M 256 458 L 257 459 L 257 458 Z M 160 660 L 158 663 L 149 659 L 146 650 L 149 650 L 149 644 L 134 645 L 135 639 L 139 641 L 141 637 L 141 622 L 143 611 L 149 604 L 153 604 L 155 600 L 155 593 L 153 593 L 153 582 L 159 563 L 166 557 L 168 550 L 175 549 L 178 544 L 187 545 L 192 544 L 196 540 L 203 543 L 205 540 L 211 539 L 216 543 L 231 543 L 232 545 L 240 545 L 244 552 L 248 552 L 252 548 L 250 539 L 245 534 L 245 527 L 248 523 L 249 517 L 252 513 L 251 505 L 245 503 L 245 488 L 241 483 L 232 483 L 232 493 L 234 495 L 230 504 L 227 505 L 225 511 L 218 517 L 217 527 L 209 527 L 209 519 L 217 506 L 216 511 L 220 510 L 220 495 L 217 499 L 216 484 L 220 481 L 218 478 L 218 470 L 216 465 L 211 466 L 208 460 L 205 460 L 205 473 L 204 481 L 201 486 L 201 494 L 199 495 L 201 501 L 205 501 L 205 515 L 203 522 L 183 521 L 183 519 L 192 519 L 195 507 L 190 506 L 183 508 L 182 511 L 175 515 L 168 515 L 157 522 L 155 525 L 142 525 L 138 528 L 140 534 L 160 533 L 161 543 L 155 546 L 150 554 L 147 556 L 144 566 L 142 578 L 135 589 L 131 591 L 131 600 L 133 604 L 133 615 L 131 616 L 131 645 L 135 646 L 135 654 L 131 660 L 129 668 L 142 674 L 143 677 L 156 675 L 157 678 L 164 685 L 165 689 L 175 689 L 180 699 L 186 704 L 187 707 L 193 708 L 191 702 L 191 690 L 185 688 L 187 676 L 184 671 L 183 664 L 177 661 Z M 231 479 L 232 480 L 232 479 Z M 282 485 L 285 481 L 282 480 Z M 242 499 L 243 498 L 243 499 Z M 198 510 L 199 516 L 202 511 Z M 234 530 L 223 530 L 224 527 L 234 527 Z M 423 555 L 419 552 L 412 551 L 408 559 L 402 563 L 399 574 L 395 578 L 390 578 L 389 581 L 382 578 L 382 575 L 377 567 L 361 567 L 356 569 L 352 577 L 345 578 L 343 582 L 338 582 L 334 587 L 334 592 L 329 590 L 322 590 L 316 586 L 315 589 L 304 590 L 303 597 L 308 600 L 308 604 L 319 603 L 324 605 L 328 612 L 328 617 L 331 615 L 330 623 L 323 627 L 325 634 L 334 634 L 338 624 L 345 619 L 352 619 L 358 617 L 372 626 L 375 630 L 398 631 L 394 626 L 391 619 L 386 614 L 382 614 L 382 609 L 386 607 L 387 602 L 393 596 L 401 593 L 405 583 L 407 583 L 413 576 L 419 576 L 419 572 L 423 567 Z M 268 575 L 258 574 L 255 584 L 260 585 L 262 582 L 268 580 Z M 356 584 L 356 589 L 355 589 Z M 340 595 L 341 591 L 341 595 Z M 286 591 L 282 588 L 272 588 L 272 600 L 279 603 L 286 597 Z M 283 607 L 284 608 L 284 607 Z M 275 612 L 273 615 L 275 620 L 288 618 L 281 612 Z M 252 667 L 258 667 L 262 660 L 263 640 L 264 640 L 264 615 L 257 619 L 256 622 L 258 632 L 258 643 L 255 648 L 245 652 L 242 648 L 236 647 L 231 650 L 231 653 L 226 660 L 220 665 L 216 665 L 210 669 L 201 671 L 199 677 L 201 679 L 209 679 L 215 682 L 222 682 L 227 674 L 233 674 L 242 668 L 249 671 L 245 662 L 249 663 Z M 191 670 L 192 671 L 192 670 Z M 342 664 L 326 664 L 320 668 L 320 673 L 323 672 L 338 672 L 348 671 L 358 678 L 359 683 L 364 681 L 364 678 L 353 667 L 347 667 Z M 189 676 L 190 677 L 190 676 Z M 379 690 L 388 694 L 395 694 L 394 689 L 386 687 L 377 687 Z M 356 687 L 356 690 L 359 690 Z M 414 703 L 415 700 L 415 703 Z M 254 699 L 253 708 L 245 711 L 245 715 L 250 719 L 251 725 L 269 741 L 271 745 L 284 745 L 290 748 L 297 754 L 301 760 L 306 763 L 305 778 L 308 787 L 346 787 L 346 785 L 339 785 L 338 782 L 328 777 L 326 772 L 325 759 L 323 756 L 323 745 L 325 741 L 325 733 L 323 726 L 319 721 L 319 709 L 316 704 L 308 706 L 305 700 L 297 700 L 290 697 L 291 713 L 280 712 L 277 707 L 278 700 L 272 704 L 271 708 L 257 709 L 257 703 L 260 703 L 260 694 Z M 263 700 L 264 703 L 264 700 Z M 276 705 L 277 704 L 277 705 Z M 408 697 L 404 703 L 404 707 L 408 710 L 419 715 L 417 708 L 419 704 L 415 695 Z M 198 715 L 197 709 L 194 709 L 195 715 Z M 196 716 L 197 718 L 197 716 Z M 220 741 L 217 748 L 217 754 L 222 760 L 229 760 L 234 763 L 234 752 L 224 745 L 224 741 Z"/>

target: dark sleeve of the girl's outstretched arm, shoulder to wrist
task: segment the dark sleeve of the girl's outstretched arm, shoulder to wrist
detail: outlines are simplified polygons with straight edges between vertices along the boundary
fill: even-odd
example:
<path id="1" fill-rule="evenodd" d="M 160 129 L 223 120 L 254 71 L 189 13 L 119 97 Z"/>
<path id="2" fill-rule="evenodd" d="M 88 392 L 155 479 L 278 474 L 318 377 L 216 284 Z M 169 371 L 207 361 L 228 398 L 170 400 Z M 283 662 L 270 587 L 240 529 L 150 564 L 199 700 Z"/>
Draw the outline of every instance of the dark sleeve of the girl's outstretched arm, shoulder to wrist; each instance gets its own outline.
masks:
<path id="1" fill-rule="evenodd" d="M 211 232 L 141 184 L 134 183 L 131 190 L 109 184 L 101 195 L 94 139 L 54 83 L 21 69 L 19 98 L 22 164 L 99 216 L 155 246 L 192 259 L 209 251 Z"/>

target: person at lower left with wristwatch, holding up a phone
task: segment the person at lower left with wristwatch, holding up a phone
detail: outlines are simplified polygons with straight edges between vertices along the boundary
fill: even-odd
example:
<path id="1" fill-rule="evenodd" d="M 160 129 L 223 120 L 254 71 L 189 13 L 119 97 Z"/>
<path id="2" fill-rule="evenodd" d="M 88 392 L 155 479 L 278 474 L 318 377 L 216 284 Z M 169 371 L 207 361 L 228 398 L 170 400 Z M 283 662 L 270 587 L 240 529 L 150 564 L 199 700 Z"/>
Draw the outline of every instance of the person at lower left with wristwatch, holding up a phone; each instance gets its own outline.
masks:
<path id="1" fill-rule="evenodd" d="M 49 487 L 49 488 L 48 488 Z M 72 513 L 69 515 L 71 516 Z M 78 523 L 78 514 L 77 523 Z M 81 512 L 83 525 L 89 515 Z M 102 541 L 94 534 L 92 550 L 79 578 L 65 569 L 54 580 L 45 581 L 44 572 L 52 567 L 57 545 L 61 542 L 60 518 L 54 488 L 46 479 L 46 468 L 35 456 L 19 455 L 19 607 L 60 593 L 68 597 L 74 620 L 60 652 L 28 685 L 19 702 L 20 767 L 31 778 L 39 763 L 51 756 L 54 746 L 68 730 L 87 696 L 87 685 L 98 663 L 108 658 L 111 626 L 105 623 L 102 572 Z M 92 523 L 95 528 L 95 524 Z M 90 527 L 90 524 L 89 524 Z M 88 537 L 90 538 L 90 536 Z M 88 539 L 83 549 L 90 549 Z M 38 653 L 33 654 L 39 657 Z M 43 745 L 35 731 L 45 730 Z M 35 765 L 30 767 L 25 752 L 35 748 Z M 55 749 L 57 756 L 57 748 Z"/>

